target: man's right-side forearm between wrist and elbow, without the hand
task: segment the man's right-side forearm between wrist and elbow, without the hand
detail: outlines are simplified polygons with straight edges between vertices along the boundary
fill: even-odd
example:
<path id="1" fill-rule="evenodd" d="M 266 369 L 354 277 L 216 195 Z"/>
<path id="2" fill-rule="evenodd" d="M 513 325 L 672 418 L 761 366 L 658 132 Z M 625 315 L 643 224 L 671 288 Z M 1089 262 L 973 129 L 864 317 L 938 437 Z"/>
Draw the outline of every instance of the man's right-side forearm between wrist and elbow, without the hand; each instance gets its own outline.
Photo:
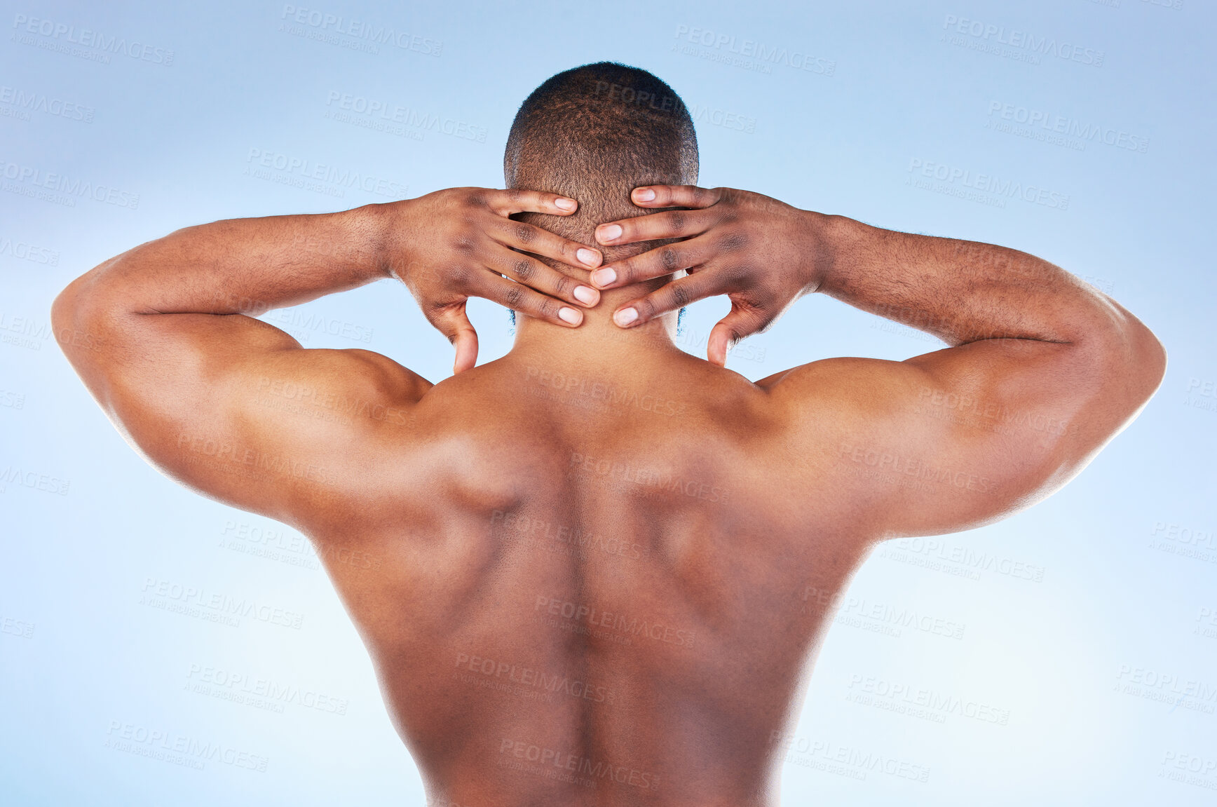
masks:
<path id="1" fill-rule="evenodd" d="M 811 215 L 825 234 L 817 291 L 948 344 L 994 337 L 1077 342 L 1126 319 L 1135 323 L 1087 284 L 1016 250 Z"/>

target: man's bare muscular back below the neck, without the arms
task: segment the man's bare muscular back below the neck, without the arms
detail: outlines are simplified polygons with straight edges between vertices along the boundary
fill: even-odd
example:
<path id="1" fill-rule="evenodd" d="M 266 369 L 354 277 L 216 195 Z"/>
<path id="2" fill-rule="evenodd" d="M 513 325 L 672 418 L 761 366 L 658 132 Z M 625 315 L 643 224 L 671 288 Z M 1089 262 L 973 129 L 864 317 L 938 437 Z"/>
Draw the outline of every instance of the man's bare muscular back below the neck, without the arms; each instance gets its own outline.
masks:
<path id="1" fill-rule="evenodd" d="M 375 515 L 315 539 L 381 561 L 331 575 L 438 795 L 755 803 L 819 639 L 797 594 L 863 544 L 741 376 L 577 366 L 432 388 L 404 428 L 428 437 L 378 448 Z"/>

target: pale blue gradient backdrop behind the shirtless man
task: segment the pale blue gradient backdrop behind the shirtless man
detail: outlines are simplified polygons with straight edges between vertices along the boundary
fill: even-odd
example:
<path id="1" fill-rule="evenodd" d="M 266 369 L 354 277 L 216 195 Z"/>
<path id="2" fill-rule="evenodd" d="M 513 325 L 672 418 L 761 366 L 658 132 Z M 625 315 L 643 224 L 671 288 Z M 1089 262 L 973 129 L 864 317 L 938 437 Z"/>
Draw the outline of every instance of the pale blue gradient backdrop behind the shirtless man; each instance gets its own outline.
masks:
<path id="1" fill-rule="evenodd" d="M 324 573 L 229 550 L 235 531 L 224 529 L 280 529 L 280 543 L 298 536 L 203 499 L 145 464 L 50 338 L 49 307 L 72 278 L 181 226 L 386 201 L 247 175 L 252 148 L 408 184 L 410 196 L 501 185 L 501 148 L 520 101 L 555 72 L 611 58 L 656 72 L 695 112 L 707 111 L 697 123 L 702 185 L 1042 256 L 1111 292 L 1170 353 L 1159 394 L 1062 492 L 999 525 L 938 539 L 942 549 L 914 545 L 893 556 L 885 548 L 867 562 L 819 660 L 784 768 L 784 802 L 1213 803 L 1211 5 L 308 6 L 442 41 L 438 56 L 388 46 L 369 54 L 293 35 L 280 29 L 282 4 L 100 5 L 5 2 L 0 15 L 0 85 L 95 110 L 91 123 L 40 111 L 23 119 L 17 103 L 0 103 L 0 161 L 139 195 L 136 209 L 88 197 L 68 207 L 22 195 L 29 183 L 12 178 L 0 192 L 0 469 L 71 481 L 66 495 L 0 482 L 0 802 L 424 803 L 366 652 Z M 47 50 L 54 38 L 17 37 L 18 15 L 169 49 L 173 65 L 122 55 L 103 65 Z M 948 17 L 1079 43 L 1104 61 L 1043 56 L 1033 65 L 963 46 L 944 38 Z M 813 54 L 834 62 L 834 74 L 713 61 L 707 56 L 724 49 L 679 39 L 682 27 Z M 417 140 L 326 118 L 332 91 L 484 128 L 484 142 L 415 128 Z M 1015 136 L 987 127 L 997 118 L 993 102 L 1123 130 L 1149 146 L 1139 153 L 1089 141 L 1076 150 Z M 714 124 L 728 113 L 752 130 Z M 1069 206 L 1015 197 L 998 207 L 993 194 L 982 203 L 910 184 L 920 176 L 910 167 L 929 162 L 1048 189 Z M 29 253 L 19 245 L 57 254 L 57 265 L 21 257 Z M 691 307 L 686 349 L 703 354 L 705 335 L 725 310 L 723 299 Z M 326 323 L 307 334 L 308 347 L 368 347 L 433 381 L 449 372 L 447 341 L 399 286 L 375 284 L 287 316 Z M 505 313 L 477 301 L 471 316 L 481 360 L 501 355 L 511 338 Z M 370 331 L 370 341 L 343 337 L 343 327 Z M 815 297 L 746 342 L 729 366 L 758 379 L 823 357 L 903 359 L 927 349 L 935 349 L 927 337 Z M 1201 554 L 1187 554 L 1195 543 L 1180 536 L 1204 536 Z M 971 561 L 947 562 L 948 571 L 902 562 L 965 549 L 972 561 L 1000 562 L 977 561 L 978 579 L 948 573 Z M 1002 573 L 1014 561 L 1041 568 L 1042 579 Z M 141 596 L 150 578 L 301 612 L 303 624 L 229 627 L 148 607 Z M 963 638 L 881 633 L 860 615 L 875 604 L 963 624 Z M 203 695 L 190 684 L 204 667 L 303 695 L 281 701 L 281 713 Z M 1137 668 L 1151 671 L 1144 680 L 1178 683 L 1143 682 L 1138 694 L 1126 686 Z M 1008 718 L 1002 725 L 955 711 L 938 712 L 936 722 L 874 706 L 891 699 L 851 701 L 868 678 Z M 1172 688 L 1190 694 L 1179 702 Z M 346 714 L 298 702 L 312 699 L 307 693 L 344 701 Z M 202 769 L 173 764 L 107 746 L 120 733 L 116 724 L 268 763 L 264 772 L 220 757 Z M 896 773 L 859 764 L 858 753 Z M 829 758 L 836 755 L 845 762 Z M 1185 760 L 1184 769 L 1166 760 Z M 1199 780 L 1170 778 L 1187 775 L 1187 764 L 1202 768 L 1193 774 Z M 926 768 L 925 781 L 899 775 Z"/>

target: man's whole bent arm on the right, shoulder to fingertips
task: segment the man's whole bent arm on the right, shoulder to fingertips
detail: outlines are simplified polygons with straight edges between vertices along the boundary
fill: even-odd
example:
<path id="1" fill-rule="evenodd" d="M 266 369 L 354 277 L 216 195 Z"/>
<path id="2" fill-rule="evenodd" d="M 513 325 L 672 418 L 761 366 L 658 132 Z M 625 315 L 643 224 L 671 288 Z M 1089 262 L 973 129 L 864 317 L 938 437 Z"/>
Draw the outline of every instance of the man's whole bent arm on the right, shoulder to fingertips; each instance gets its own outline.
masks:
<path id="1" fill-rule="evenodd" d="M 604 287 L 692 268 L 623 307 L 639 312 L 636 325 L 727 293 L 731 312 L 711 335 L 711 360 L 815 291 L 947 342 L 905 362 L 826 359 L 758 382 L 785 424 L 790 472 L 809 484 L 836 480 L 846 517 L 869 534 L 955 532 L 1033 504 L 1161 383 L 1166 354 L 1150 330 L 1033 256 L 731 189 L 654 186 L 634 198 L 688 209 L 617 222 L 621 235 L 602 242 L 686 240 L 612 264 L 617 279 Z"/>

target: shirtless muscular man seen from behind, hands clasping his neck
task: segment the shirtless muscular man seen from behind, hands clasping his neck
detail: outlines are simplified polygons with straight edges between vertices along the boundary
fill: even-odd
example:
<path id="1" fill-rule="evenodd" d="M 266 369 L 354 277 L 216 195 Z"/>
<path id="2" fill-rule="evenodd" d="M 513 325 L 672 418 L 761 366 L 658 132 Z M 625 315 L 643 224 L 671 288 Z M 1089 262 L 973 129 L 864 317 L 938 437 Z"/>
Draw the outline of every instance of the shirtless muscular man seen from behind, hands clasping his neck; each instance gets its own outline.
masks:
<path id="1" fill-rule="evenodd" d="M 1162 347 L 1039 258 L 692 186 L 684 106 L 633 68 L 538 88 L 505 169 L 520 190 L 180 230 L 68 286 L 56 334 L 151 463 L 315 542 L 430 800 L 775 805 L 775 740 L 876 542 L 1060 488 Z M 385 278 L 455 375 L 247 315 Z M 809 292 L 949 347 L 723 368 Z M 682 352 L 677 309 L 720 293 L 710 362 Z M 482 366 L 469 296 L 521 314 Z"/>

